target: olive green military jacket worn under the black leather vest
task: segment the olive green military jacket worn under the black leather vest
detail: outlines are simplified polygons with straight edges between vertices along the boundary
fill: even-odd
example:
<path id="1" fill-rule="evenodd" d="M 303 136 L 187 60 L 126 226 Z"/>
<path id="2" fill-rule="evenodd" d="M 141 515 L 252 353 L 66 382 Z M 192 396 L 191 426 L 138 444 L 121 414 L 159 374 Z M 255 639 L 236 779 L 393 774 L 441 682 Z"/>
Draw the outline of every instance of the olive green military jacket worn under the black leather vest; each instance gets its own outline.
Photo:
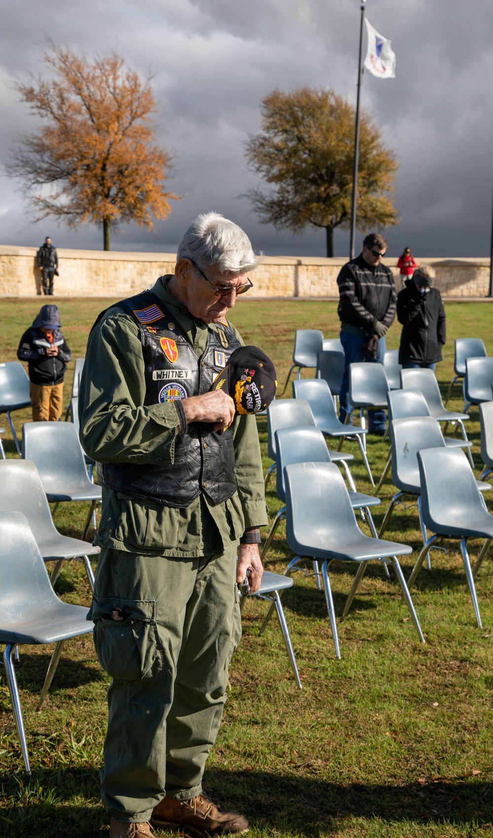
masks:
<path id="1" fill-rule="evenodd" d="M 194 319 L 160 279 L 152 290 L 200 357 L 215 324 Z M 100 463 L 173 462 L 180 433 L 174 403 L 143 406 L 145 392 L 138 326 L 116 305 L 90 335 L 80 381 L 80 438 L 91 458 Z M 231 548 L 246 527 L 266 525 L 255 416 L 236 416 L 232 430 L 237 491 L 231 498 L 214 505 L 203 493 L 180 510 L 103 488 L 94 543 L 153 556 L 208 556 Z"/>

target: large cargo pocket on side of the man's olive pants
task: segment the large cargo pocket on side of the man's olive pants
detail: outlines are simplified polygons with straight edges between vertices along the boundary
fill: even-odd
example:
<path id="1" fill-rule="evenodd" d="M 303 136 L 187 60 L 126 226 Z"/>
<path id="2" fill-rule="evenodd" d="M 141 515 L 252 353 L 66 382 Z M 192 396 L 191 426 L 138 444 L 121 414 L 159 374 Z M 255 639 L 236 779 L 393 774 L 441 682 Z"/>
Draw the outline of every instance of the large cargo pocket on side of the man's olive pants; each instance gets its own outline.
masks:
<path id="1" fill-rule="evenodd" d="M 155 620 L 155 600 L 93 597 L 97 660 L 119 680 L 156 678 L 163 672 L 163 647 Z"/>

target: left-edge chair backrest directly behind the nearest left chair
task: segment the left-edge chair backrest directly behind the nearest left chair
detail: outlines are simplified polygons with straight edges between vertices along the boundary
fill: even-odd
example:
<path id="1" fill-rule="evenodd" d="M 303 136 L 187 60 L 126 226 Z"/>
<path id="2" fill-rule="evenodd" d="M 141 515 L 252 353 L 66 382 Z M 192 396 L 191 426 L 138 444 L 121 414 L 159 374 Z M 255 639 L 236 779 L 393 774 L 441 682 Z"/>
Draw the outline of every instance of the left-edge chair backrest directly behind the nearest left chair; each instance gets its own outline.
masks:
<path id="1" fill-rule="evenodd" d="M 0 460 L 0 510 L 22 512 L 36 541 L 57 535 L 38 469 L 31 460 Z"/>

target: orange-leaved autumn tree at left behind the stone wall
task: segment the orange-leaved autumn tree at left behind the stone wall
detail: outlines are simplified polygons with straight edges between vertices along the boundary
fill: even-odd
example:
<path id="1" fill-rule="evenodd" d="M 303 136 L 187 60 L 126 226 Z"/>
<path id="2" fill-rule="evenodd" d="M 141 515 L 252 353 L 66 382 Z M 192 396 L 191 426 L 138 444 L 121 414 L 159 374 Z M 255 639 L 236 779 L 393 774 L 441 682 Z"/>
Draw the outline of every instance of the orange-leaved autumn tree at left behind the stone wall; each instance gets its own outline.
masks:
<path id="1" fill-rule="evenodd" d="M 150 77 L 143 82 L 117 54 L 90 61 L 51 44 L 43 60 L 49 80 L 16 86 L 44 124 L 20 137 L 8 171 L 23 181 L 36 220 L 102 225 L 109 250 L 110 228 L 151 228 L 179 200 L 164 189 L 170 158 L 154 137 Z"/>

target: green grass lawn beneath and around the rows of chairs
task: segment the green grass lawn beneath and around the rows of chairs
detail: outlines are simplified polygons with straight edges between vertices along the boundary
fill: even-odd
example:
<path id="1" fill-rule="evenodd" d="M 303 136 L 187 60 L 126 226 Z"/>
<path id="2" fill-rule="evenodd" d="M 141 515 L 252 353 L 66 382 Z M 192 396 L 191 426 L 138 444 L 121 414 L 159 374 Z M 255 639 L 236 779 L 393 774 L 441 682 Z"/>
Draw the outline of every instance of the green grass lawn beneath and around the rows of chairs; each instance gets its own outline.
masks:
<path id="1" fill-rule="evenodd" d="M 14 360 L 18 339 L 41 300 L 3 300 L 0 360 Z M 85 354 L 96 314 L 111 301 L 54 300 L 74 357 Z M 454 337 L 479 336 L 493 354 L 493 309 L 480 303 L 446 307 L 449 343 L 437 375 L 443 393 L 453 375 Z M 291 363 L 296 328 L 339 334 L 336 304 L 304 301 L 248 301 L 231 319 L 246 343 L 270 354 L 283 385 Z M 387 335 L 397 348 L 400 327 Z M 70 397 L 73 365 L 65 384 Z M 288 392 L 288 395 L 289 392 Z M 449 406 L 462 406 L 457 386 Z M 30 411 L 18 411 L 20 433 Z M 2 422 L 8 427 L 6 422 Z M 266 422 L 258 420 L 264 465 Z M 480 469 L 477 411 L 467 423 Z M 8 456 L 15 449 L 3 435 Z M 358 489 L 371 492 L 358 449 L 352 472 Z M 368 440 L 372 471 L 379 476 L 387 443 Z M 17 456 L 17 455 L 15 455 Z M 381 490 L 381 522 L 394 494 L 390 479 Z M 491 507 L 492 492 L 485 494 Z M 279 508 L 274 481 L 267 491 L 270 515 Z M 63 506 L 63 504 L 62 504 Z M 65 504 L 55 524 L 65 535 L 80 535 L 86 504 Z M 387 538 L 413 546 L 402 557 L 409 576 L 420 545 L 413 504 L 398 506 Z M 471 544 L 475 556 L 479 542 Z M 283 572 L 291 552 L 278 530 L 268 556 L 269 570 Z M 344 838 L 452 838 L 493 832 L 493 565 L 486 559 L 476 582 L 484 629 L 476 627 L 458 545 L 432 551 L 432 572 L 418 577 L 413 600 L 426 645 L 400 606 L 395 577 L 370 566 L 350 613 L 339 623 L 342 660 L 335 660 L 324 595 L 313 577 L 299 572 L 283 597 L 304 689 L 298 691 L 278 625 L 258 637 L 266 603 L 246 603 L 243 638 L 231 663 L 231 689 L 223 726 L 207 763 L 205 791 L 216 802 L 244 812 L 253 838 L 337 835 Z M 335 608 L 342 613 L 353 572 L 332 566 Z M 67 562 L 57 582 L 60 597 L 89 604 L 82 566 Z M 42 713 L 34 712 L 48 666 L 49 647 L 24 647 L 18 683 L 33 777 L 27 782 L 13 723 L 8 689 L 0 670 L 0 835 L 92 838 L 105 834 L 98 770 L 106 725 L 109 679 L 96 661 L 90 636 L 69 641 Z M 159 833 L 158 835 L 164 835 Z"/>

